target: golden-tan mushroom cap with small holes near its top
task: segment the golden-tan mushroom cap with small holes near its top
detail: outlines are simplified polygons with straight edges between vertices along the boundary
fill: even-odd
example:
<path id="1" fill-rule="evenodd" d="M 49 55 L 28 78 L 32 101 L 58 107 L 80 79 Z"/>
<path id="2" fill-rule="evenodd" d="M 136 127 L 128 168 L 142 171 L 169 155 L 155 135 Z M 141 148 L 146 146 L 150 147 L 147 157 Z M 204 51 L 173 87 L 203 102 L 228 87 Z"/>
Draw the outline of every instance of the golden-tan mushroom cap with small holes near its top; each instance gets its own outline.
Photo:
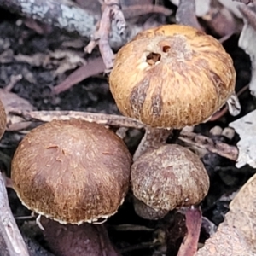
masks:
<path id="1" fill-rule="evenodd" d="M 160 128 L 199 124 L 235 90 L 233 61 L 217 39 L 193 27 L 141 32 L 116 55 L 109 84 L 125 116 Z"/>

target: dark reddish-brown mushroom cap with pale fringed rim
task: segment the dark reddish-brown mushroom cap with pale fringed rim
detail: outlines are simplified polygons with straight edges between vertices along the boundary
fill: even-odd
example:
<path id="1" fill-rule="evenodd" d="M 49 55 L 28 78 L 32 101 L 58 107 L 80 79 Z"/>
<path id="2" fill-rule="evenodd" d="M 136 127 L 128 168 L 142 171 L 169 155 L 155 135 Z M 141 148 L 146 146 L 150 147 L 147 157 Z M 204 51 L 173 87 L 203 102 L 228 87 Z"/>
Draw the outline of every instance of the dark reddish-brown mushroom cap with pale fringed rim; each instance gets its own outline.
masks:
<path id="1" fill-rule="evenodd" d="M 81 224 L 117 212 L 129 187 L 131 154 L 102 125 L 55 120 L 24 137 L 11 167 L 26 207 L 62 224 Z"/>

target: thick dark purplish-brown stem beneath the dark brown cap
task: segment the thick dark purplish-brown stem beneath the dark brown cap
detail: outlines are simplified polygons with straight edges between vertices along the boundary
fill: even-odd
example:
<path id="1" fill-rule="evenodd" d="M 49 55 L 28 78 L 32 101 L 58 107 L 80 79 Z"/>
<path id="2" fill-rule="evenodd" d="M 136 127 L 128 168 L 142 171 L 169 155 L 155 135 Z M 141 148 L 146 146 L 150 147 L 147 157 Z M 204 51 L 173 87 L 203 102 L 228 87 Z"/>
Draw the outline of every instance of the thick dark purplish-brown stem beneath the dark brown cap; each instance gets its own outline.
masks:
<path id="1" fill-rule="evenodd" d="M 55 255 L 120 256 L 104 225 L 59 224 L 42 217 L 44 238 Z"/>

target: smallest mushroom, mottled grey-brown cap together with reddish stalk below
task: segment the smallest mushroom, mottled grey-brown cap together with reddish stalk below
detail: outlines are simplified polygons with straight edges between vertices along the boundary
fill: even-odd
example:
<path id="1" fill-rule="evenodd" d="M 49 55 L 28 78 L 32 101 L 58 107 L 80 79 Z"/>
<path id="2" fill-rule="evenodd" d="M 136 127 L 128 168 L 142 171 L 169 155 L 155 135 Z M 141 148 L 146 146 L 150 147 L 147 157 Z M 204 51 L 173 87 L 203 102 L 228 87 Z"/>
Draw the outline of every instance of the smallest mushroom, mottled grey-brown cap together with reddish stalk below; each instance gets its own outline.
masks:
<path id="1" fill-rule="evenodd" d="M 201 229 L 201 210 L 195 206 L 209 189 L 209 177 L 200 158 L 176 144 L 149 148 L 131 166 L 131 189 L 138 200 L 135 211 L 143 218 L 162 218 L 173 209 L 185 207 L 189 241 L 185 246 L 183 243 L 178 255 L 194 255 Z"/>

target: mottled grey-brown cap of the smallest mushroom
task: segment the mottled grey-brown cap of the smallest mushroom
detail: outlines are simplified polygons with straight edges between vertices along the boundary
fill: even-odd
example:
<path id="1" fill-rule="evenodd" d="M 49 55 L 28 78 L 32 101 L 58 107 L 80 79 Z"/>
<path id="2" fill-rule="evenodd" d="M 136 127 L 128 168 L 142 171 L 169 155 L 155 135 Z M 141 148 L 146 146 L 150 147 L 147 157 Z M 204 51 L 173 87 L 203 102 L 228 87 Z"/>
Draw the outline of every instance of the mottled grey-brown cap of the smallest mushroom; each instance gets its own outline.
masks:
<path id="1" fill-rule="evenodd" d="M 209 177 L 196 154 L 166 144 L 148 149 L 133 163 L 131 187 L 147 206 L 171 211 L 200 203 L 207 195 Z"/>

